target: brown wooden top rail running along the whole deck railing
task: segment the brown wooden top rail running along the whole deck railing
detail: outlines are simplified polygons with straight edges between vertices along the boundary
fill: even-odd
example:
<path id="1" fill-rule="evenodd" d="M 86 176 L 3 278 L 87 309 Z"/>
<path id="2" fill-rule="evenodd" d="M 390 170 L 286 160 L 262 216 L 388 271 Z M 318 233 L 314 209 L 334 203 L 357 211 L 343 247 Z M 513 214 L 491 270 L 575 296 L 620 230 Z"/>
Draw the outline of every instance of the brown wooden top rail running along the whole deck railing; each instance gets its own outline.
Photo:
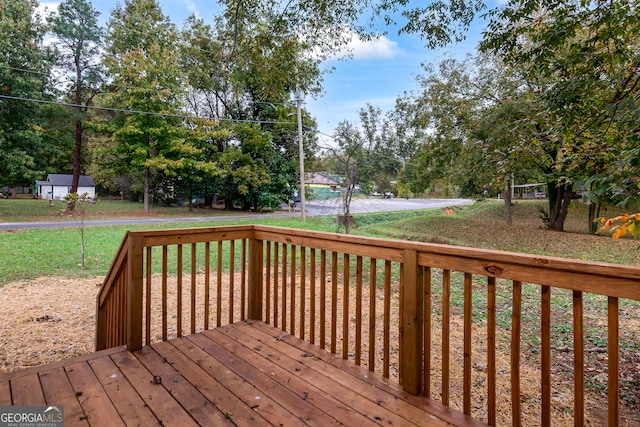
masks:
<path id="1" fill-rule="evenodd" d="M 415 250 L 421 265 L 640 300 L 638 266 L 266 225 L 129 231 L 120 245 L 119 254 L 122 254 L 127 238 L 142 239 L 144 247 L 257 238 L 394 262 L 403 262 L 404 250 Z M 118 259 L 109 275 L 114 273 Z M 103 289 L 101 294 L 105 291 Z"/>

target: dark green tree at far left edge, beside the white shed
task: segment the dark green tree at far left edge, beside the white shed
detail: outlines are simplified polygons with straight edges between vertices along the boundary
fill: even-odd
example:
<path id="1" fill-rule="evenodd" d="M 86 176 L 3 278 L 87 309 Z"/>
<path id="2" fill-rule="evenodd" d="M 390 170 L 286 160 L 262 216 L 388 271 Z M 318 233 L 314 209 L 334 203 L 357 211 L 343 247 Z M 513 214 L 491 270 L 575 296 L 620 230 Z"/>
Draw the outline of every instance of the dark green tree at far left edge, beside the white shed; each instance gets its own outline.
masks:
<path id="1" fill-rule="evenodd" d="M 28 186 L 49 169 L 43 155 L 41 107 L 49 62 L 34 0 L 0 1 L 0 182 Z"/>

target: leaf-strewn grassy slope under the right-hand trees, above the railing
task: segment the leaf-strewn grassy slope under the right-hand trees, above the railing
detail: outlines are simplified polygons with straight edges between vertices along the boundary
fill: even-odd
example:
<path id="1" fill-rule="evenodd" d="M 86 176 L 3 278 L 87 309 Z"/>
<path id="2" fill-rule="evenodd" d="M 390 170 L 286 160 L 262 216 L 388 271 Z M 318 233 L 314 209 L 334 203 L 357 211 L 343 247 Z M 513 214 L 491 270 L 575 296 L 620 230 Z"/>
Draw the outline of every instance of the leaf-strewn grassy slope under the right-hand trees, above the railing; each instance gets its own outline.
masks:
<path id="1" fill-rule="evenodd" d="M 564 233 L 543 228 L 539 209 L 544 207 L 544 201 L 516 202 L 511 226 L 505 223 L 503 203 L 488 201 L 447 210 L 448 213 L 440 211 L 366 226 L 361 232 L 419 242 L 640 265 L 638 241 L 587 234 L 588 212 L 584 204 L 572 204 Z"/>

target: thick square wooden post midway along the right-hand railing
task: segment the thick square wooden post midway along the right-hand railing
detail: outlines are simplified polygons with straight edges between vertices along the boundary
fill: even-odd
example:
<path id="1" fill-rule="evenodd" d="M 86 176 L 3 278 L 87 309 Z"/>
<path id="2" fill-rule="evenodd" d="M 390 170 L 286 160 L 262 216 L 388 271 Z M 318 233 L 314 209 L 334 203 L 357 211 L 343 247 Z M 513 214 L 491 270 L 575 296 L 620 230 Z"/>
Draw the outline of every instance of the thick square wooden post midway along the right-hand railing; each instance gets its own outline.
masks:
<path id="1" fill-rule="evenodd" d="M 422 392 L 423 333 L 424 333 L 424 278 L 418 266 L 418 253 L 405 249 L 403 254 L 403 283 L 400 292 L 402 348 L 402 387 L 411 394 Z"/>

